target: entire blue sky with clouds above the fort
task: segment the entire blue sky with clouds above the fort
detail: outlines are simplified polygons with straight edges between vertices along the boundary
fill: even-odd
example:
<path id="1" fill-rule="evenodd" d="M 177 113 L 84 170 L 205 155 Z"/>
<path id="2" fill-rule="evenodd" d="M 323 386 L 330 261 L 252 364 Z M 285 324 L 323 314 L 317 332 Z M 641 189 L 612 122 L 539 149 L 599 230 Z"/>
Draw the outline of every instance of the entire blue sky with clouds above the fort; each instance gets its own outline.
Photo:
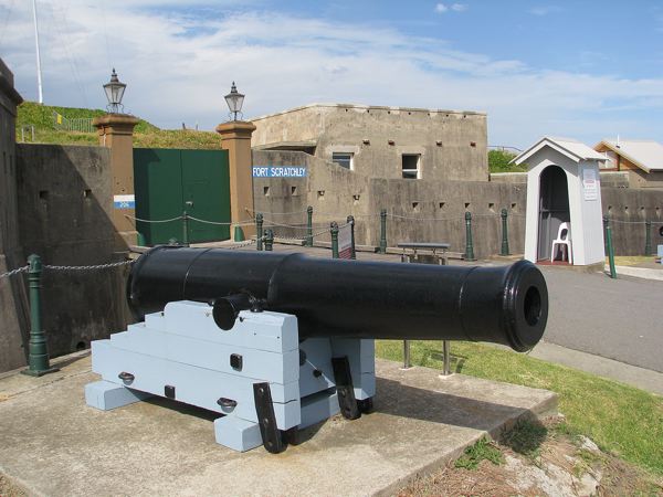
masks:
<path id="1" fill-rule="evenodd" d="M 480 110 L 488 142 L 663 141 L 663 1 L 38 0 L 46 104 L 212 129 L 314 102 Z M 31 2 L 0 0 L 0 56 L 36 99 Z"/>

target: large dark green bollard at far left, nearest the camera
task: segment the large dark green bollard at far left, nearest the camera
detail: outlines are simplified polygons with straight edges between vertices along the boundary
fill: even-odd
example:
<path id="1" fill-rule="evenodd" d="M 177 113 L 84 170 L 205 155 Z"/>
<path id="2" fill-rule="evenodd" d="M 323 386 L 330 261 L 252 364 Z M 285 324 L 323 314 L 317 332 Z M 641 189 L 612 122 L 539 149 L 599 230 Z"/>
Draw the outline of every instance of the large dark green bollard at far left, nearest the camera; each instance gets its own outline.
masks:
<path id="1" fill-rule="evenodd" d="M 39 255 L 32 254 L 28 257 L 28 282 L 30 284 L 30 342 L 28 355 L 28 369 L 21 371 L 31 377 L 57 371 L 49 363 L 49 348 L 46 336 L 41 326 L 41 274 L 42 263 Z"/>

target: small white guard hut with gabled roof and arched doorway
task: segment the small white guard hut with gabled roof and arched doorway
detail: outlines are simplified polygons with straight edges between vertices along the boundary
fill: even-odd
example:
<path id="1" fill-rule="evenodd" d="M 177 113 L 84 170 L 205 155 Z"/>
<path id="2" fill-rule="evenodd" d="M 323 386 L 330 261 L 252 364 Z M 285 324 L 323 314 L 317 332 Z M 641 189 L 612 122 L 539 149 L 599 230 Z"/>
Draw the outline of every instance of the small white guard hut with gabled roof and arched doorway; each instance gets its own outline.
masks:
<path id="1" fill-rule="evenodd" d="M 599 162 L 604 160 L 585 144 L 550 137 L 541 138 L 514 159 L 518 165 L 528 165 L 526 260 L 603 263 Z"/>

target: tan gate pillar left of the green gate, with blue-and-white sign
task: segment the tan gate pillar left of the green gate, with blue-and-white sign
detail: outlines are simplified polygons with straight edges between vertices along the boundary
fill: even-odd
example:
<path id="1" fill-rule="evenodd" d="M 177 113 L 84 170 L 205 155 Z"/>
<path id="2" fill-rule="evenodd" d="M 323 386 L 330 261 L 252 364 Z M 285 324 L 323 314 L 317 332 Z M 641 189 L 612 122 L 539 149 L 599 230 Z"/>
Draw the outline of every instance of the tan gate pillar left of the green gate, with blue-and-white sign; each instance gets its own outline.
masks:
<path id="1" fill-rule="evenodd" d="M 113 173 L 113 224 L 117 230 L 115 251 L 126 252 L 127 245 L 136 244 L 136 223 L 125 218 L 135 216 L 134 192 L 134 126 L 138 119 L 126 114 L 106 114 L 95 117 L 92 124 L 97 128 L 99 145 L 110 148 L 110 170 Z"/>

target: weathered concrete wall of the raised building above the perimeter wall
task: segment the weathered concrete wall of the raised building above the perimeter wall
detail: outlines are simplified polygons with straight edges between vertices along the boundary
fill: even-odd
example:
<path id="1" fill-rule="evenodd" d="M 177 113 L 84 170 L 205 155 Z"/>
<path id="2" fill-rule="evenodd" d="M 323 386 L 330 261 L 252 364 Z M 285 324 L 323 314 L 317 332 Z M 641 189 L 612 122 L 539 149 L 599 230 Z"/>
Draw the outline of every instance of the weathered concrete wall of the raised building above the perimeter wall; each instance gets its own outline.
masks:
<path id="1" fill-rule="evenodd" d="M 252 119 L 252 146 L 315 142 L 315 157 L 354 154 L 354 171 L 401 179 L 403 154 L 421 155 L 421 179 L 487 180 L 486 115 L 473 112 L 311 105 Z M 390 144 L 391 141 L 391 144 Z"/>

